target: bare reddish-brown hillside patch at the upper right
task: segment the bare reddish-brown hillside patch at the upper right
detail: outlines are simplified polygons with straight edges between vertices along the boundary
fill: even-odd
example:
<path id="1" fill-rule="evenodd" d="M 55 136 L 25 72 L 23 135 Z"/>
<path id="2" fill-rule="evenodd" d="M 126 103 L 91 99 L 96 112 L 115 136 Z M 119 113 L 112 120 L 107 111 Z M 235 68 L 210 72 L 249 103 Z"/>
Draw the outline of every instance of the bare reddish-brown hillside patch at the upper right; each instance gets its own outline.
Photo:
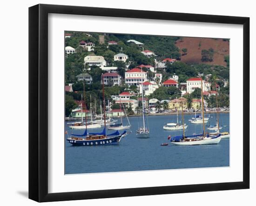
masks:
<path id="1" fill-rule="evenodd" d="M 183 37 L 176 41 L 176 47 L 182 51 L 187 48 L 187 54 L 181 56 L 181 61 L 184 63 L 206 63 L 210 65 L 227 66 L 224 57 L 229 55 L 229 41 L 223 39 L 195 38 Z M 214 49 L 213 61 L 202 62 L 202 50 Z M 182 53 L 182 52 L 181 52 Z"/>

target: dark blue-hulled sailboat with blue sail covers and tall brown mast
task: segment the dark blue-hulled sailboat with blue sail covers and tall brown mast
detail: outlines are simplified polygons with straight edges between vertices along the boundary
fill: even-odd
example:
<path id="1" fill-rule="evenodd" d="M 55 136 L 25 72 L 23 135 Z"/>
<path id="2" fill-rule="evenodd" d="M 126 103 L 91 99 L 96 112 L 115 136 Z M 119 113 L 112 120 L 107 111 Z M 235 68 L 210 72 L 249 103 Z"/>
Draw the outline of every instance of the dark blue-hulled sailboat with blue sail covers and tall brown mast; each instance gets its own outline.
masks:
<path id="1" fill-rule="evenodd" d="M 98 146 L 98 145 L 112 145 L 118 144 L 127 132 L 119 133 L 118 130 L 115 133 L 107 134 L 106 132 L 106 111 L 105 111 L 105 97 L 104 97 L 104 82 L 102 76 L 103 85 L 103 111 L 104 111 L 104 129 L 101 133 L 88 133 L 87 128 L 83 134 L 71 134 L 67 138 L 67 142 L 73 146 Z"/>

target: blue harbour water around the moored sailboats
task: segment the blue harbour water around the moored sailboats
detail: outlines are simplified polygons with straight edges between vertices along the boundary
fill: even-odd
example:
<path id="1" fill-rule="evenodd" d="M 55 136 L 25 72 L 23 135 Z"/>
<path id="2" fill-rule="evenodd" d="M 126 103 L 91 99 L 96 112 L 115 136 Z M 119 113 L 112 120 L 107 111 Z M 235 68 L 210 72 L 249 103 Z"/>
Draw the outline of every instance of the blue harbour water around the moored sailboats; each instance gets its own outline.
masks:
<path id="1" fill-rule="evenodd" d="M 202 133 L 202 125 L 189 123 L 192 116 L 194 115 L 184 114 L 184 122 L 189 125 L 186 135 Z M 206 116 L 208 117 L 208 114 Z M 211 125 L 215 125 L 215 114 L 210 116 Z M 182 130 L 165 131 L 162 127 L 165 123 L 176 122 L 176 115 L 148 116 L 148 139 L 135 137 L 138 120 L 141 123 L 142 119 L 130 117 L 129 120 L 132 133 L 121 139 L 117 145 L 72 146 L 65 140 L 65 174 L 229 166 L 229 139 L 222 139 L 218 145 L 175 146 L 167 137 L 169 134 L 182 135 Z M 124 119 L 124 125 L 126 123 L 127 120 Z M 220 113 L 221 125 L 221 132 L 229 132 L 229 113 Z M 83 133 L 83 130 L 73 132 Z M 68 133 L 70 134 L 71 130 L 68 130 Z M 164 142 L 168 142 L 168 146 L 160 146 Z"/>

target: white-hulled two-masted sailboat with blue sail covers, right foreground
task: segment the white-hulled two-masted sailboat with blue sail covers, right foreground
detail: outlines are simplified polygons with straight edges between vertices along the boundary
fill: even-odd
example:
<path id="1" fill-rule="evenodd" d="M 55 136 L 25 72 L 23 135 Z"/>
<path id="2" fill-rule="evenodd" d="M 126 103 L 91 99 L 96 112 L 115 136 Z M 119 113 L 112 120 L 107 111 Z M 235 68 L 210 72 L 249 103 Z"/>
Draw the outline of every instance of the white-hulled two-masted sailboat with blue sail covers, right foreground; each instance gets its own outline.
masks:
<path id="1" fill-rule="evenodd" d="M 202 102 L 203 102 L 202 79 L 201 79 L 201 96 L 202 96 Z M 182 123 L 184 126 L 183 107 L 182 107 Z M 203 104 L 202 104 L 203 133 L 185 136 L 185 130 L 183 128 L 183 134 L 181 136 L 175 136 L 175 137 L 170 138 L 171 143 L 174 145 L 179 145 L 179 146 L 219 144 L 219 142 L 221 140 L 221 134 L 218 133 L 213 136 L 206 134 L 204 123 L 205 123 L 204 122 L 204 110 L 203 110 Z"/>

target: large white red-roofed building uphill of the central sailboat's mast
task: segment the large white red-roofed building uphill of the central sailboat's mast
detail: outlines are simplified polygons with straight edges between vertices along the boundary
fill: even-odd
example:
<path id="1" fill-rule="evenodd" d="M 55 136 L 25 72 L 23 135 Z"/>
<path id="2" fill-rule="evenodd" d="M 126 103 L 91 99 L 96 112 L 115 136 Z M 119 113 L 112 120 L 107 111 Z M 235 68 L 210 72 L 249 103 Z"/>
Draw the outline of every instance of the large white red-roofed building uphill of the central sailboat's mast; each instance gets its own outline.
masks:
<path id="1" fill-rule="evenodd" d="M 145 81 L 148 81 L 147 73 L 144 72 L 142 69 L 133 68 L 125 73 L 125 83 L 128 86 L 139 86 L 141 82 Z"/>

